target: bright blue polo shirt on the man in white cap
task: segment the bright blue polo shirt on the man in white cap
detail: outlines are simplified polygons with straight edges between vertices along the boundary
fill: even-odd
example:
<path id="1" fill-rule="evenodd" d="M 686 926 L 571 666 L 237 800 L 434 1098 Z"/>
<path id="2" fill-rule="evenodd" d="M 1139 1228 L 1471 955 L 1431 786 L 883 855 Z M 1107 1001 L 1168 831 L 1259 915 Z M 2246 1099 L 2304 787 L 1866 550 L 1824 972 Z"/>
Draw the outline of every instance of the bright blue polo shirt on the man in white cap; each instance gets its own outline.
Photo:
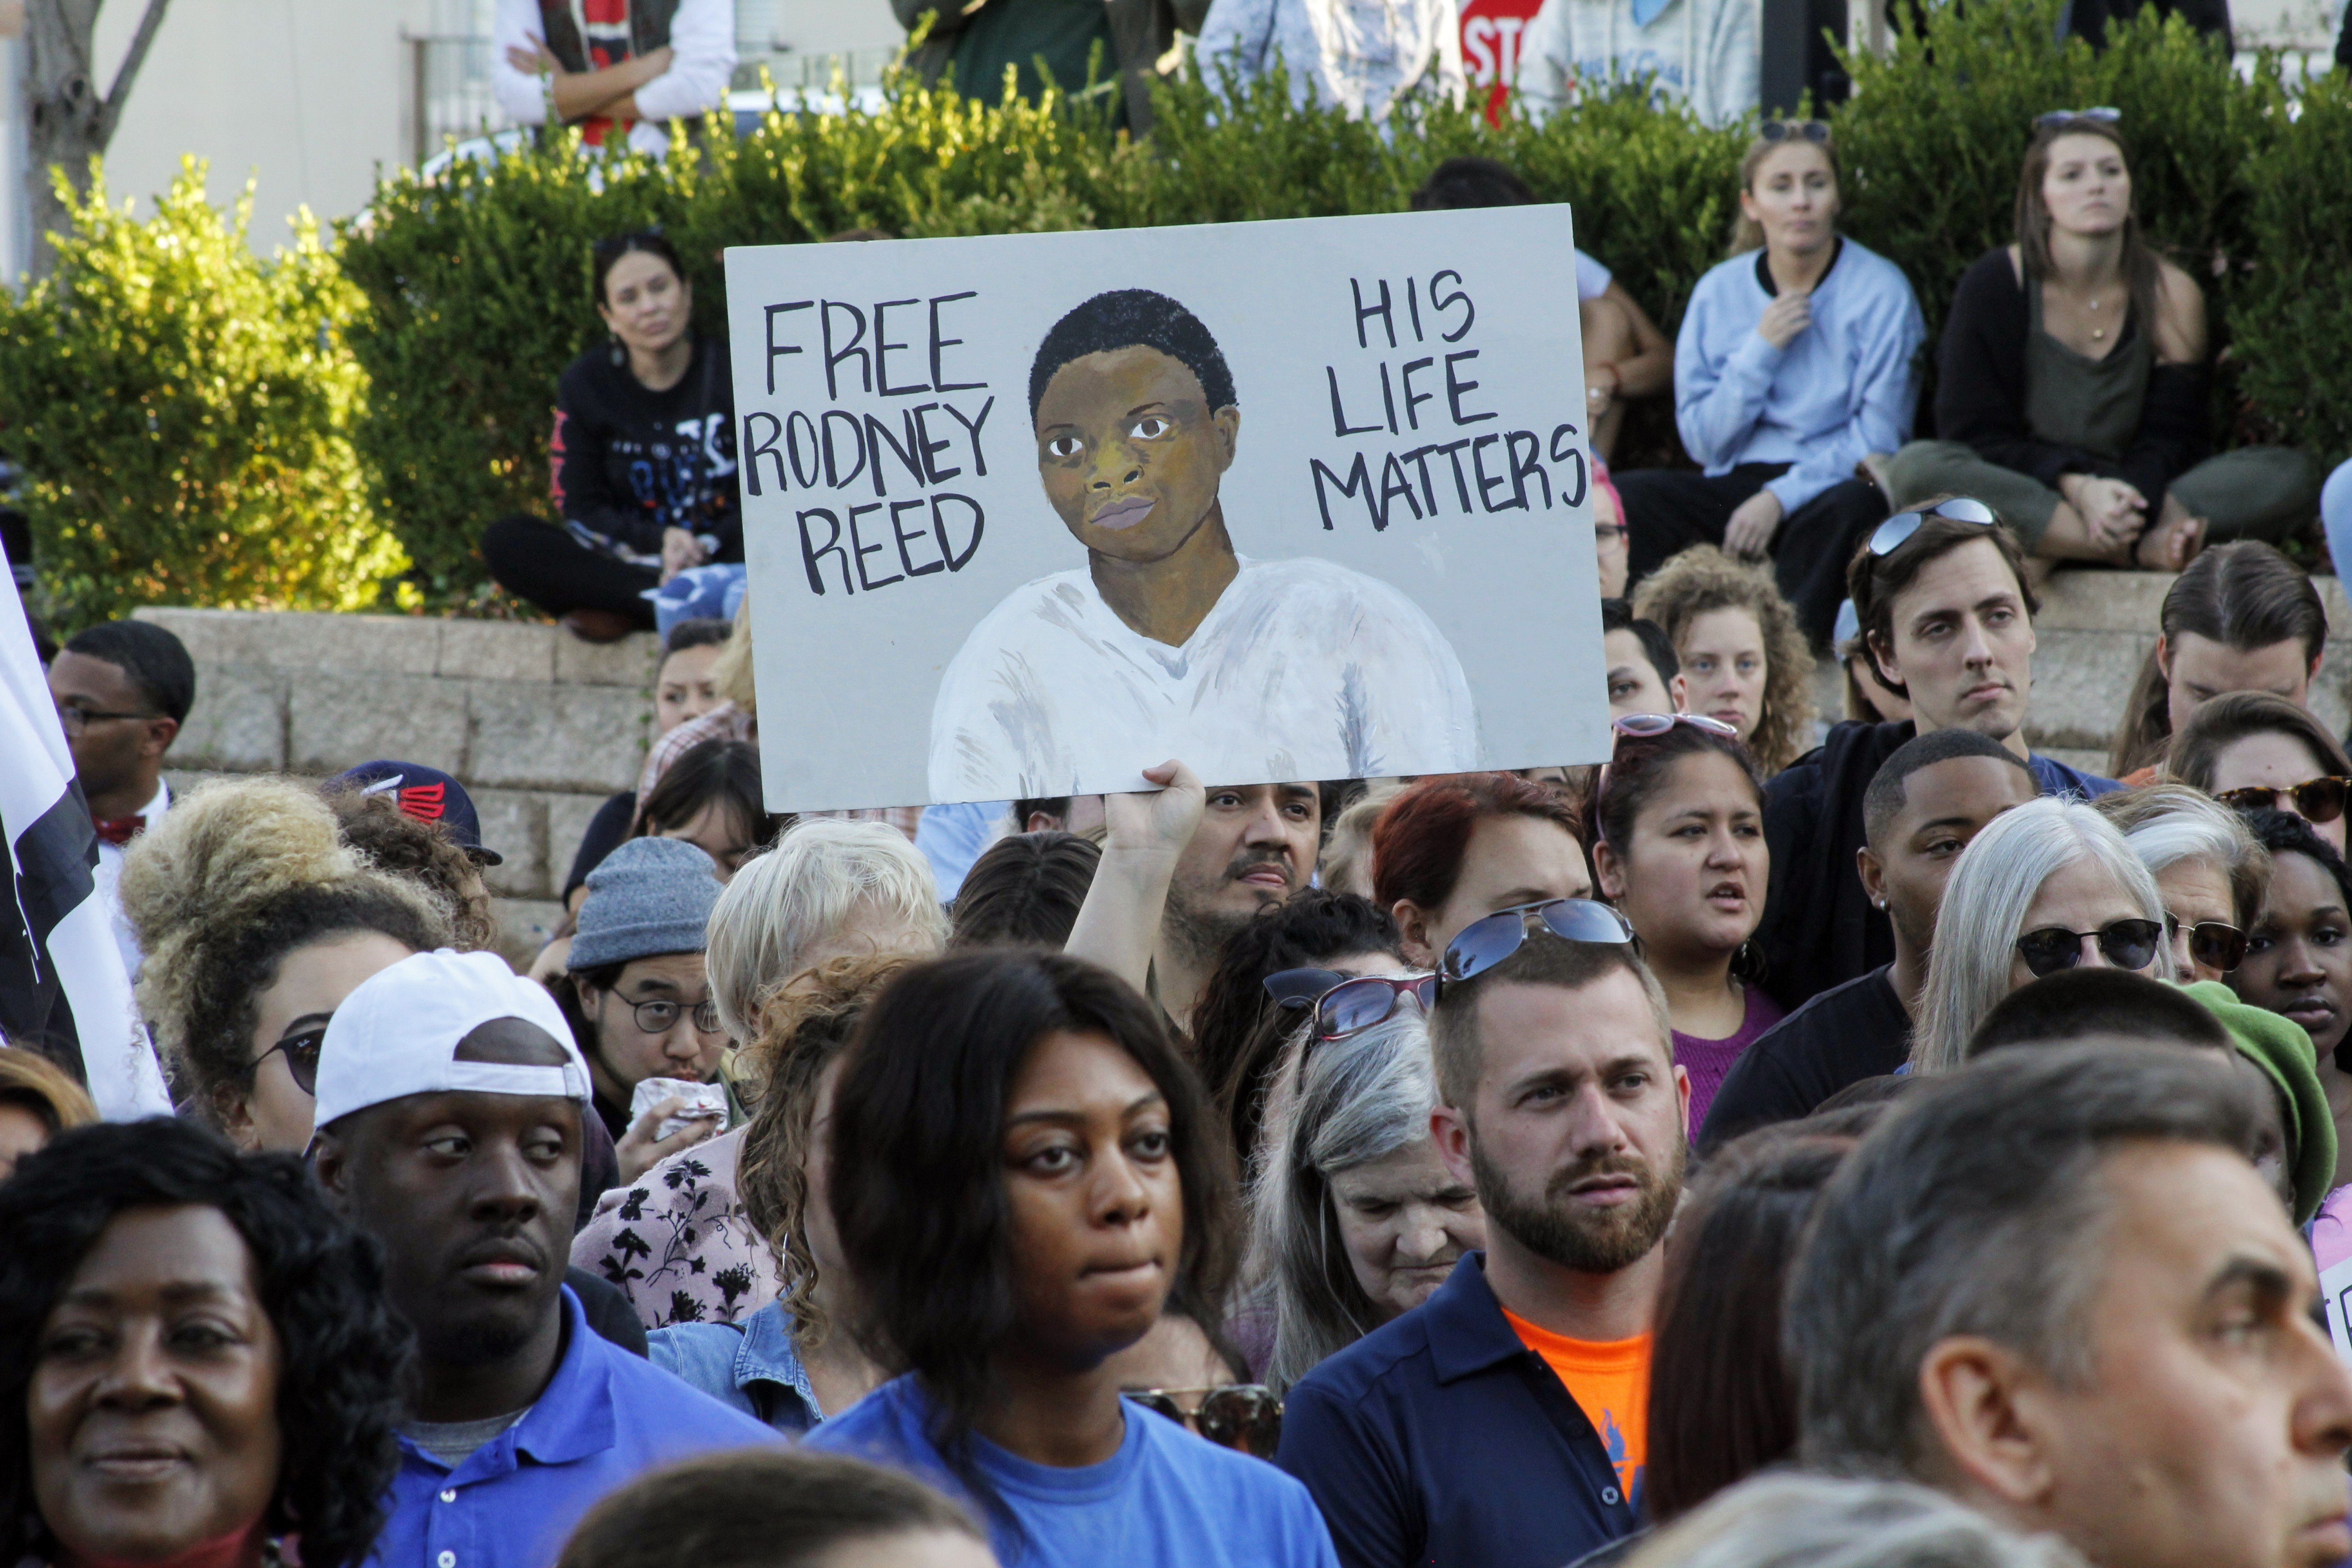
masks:
<path id="1" fill-rule="evenodd" d="M 564 1354 L 520 1422 L 449 1469 L 400 1439 L 372 1563 L 548 1568 L 595 1502 L 637 1474 L 776 1434 L 588 1328 L 564 1288 Z"/>

